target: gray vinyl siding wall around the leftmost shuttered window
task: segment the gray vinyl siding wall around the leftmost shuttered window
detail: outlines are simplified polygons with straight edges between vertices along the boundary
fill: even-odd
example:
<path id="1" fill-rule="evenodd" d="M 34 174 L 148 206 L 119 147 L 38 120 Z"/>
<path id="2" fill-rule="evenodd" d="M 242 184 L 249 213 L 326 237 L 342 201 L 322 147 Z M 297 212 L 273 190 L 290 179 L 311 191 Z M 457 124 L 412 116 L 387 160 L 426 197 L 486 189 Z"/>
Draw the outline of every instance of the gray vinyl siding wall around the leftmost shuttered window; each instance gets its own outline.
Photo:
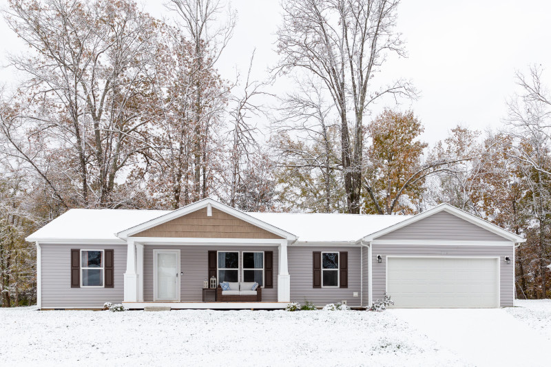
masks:
<path id="1" fill-rule="evenodd" d="M 40 247 L 42 308 L 103 308 L 105 302 L 123 302 L 125 244 L 41 244 Z M 71 249 L 113 249 L 114 288 L 71 288 Z"/>

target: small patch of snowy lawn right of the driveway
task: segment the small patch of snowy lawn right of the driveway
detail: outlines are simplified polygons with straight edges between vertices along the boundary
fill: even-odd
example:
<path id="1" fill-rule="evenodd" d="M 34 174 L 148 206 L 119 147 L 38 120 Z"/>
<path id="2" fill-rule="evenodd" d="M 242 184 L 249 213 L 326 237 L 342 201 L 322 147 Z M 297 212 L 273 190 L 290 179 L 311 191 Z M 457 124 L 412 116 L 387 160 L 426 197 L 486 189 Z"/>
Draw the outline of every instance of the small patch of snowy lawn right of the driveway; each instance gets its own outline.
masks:
<path id="1" fill-rule="evenodd" d="M 514 300 L 506 310 L 551 341 L 551 300 Z"/>

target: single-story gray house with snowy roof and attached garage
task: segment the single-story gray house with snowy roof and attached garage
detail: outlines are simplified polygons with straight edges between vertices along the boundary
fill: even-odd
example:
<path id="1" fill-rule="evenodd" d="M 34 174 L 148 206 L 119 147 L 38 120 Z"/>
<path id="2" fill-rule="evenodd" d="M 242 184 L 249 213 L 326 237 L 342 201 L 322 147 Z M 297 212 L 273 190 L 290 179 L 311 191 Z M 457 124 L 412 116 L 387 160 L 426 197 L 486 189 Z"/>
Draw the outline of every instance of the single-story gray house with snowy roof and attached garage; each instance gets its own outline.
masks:
<path id="1" fill-rule="evenodd" d="M 525 241 L 446 204 L 371 216 L 245 213 L 212 199 L 174 211 L 72 209 L 27 240 L 44 309 L 366 306 L 385 293 L 404 308 L 512 306 L 514 248 Z M 211 278 L 233 284 L 231 302 L 203 289 Z"/>

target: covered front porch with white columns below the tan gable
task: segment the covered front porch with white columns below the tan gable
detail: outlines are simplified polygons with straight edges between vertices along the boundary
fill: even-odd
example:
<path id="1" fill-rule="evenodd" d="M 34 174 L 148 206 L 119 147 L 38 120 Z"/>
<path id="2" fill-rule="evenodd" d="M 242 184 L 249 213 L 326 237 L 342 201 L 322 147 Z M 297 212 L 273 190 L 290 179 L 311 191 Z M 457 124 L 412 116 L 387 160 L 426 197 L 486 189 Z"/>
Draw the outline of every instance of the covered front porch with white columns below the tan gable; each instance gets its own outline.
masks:
<path id="1" fill-rule="evenodd" d="M 232 266 L 220 260 L 227 254 L 236 259 Z M 251 265 L 247 264 L 247 256 L 251 255 L 257 262 L 260 259 L 256 269 L 249 269 Z M 169 270 L 174 277 L 167 277 L 166 266 L 158 265 L 161 257 L 174 258 L 174 269 Z M 136 264 L 135 269 L 132 264 Z M 218 298 L 217 302 L 213 298 L 203 302 L 204 282 L 210 283 L 213 276 L 217 286 L 224 280 L 258 282 L 262 286 L 261 302 L 220 302 Z M 284 308 L 290 301 L 289 278 L 287 240 L 129 239 L 124 303 L 128 308 L 149 304 L 170 304 L 171 308 Z M 167 289 L 171 286 L 167 284 L 175 288 Z"/>

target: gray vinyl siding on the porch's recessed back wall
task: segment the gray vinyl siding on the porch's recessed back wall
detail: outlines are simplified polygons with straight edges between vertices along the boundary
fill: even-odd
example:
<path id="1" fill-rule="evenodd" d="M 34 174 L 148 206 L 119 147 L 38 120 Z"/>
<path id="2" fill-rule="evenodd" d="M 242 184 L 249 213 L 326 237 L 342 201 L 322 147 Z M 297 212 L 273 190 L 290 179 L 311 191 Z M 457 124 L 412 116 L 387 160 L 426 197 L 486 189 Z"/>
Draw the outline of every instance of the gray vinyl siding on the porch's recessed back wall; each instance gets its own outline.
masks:
<path id="1" fill-rule="evenodd" d="M 180 250 L 180 301 L 202 302 L 202 285 L 209 273 L 209 251 L 273 251 L 273 288 L 262 289 L 262 302 L 278 302 L 278 247 L 163 246 L 146 244 L 143 249 L 143 300 L 153 301 L 153 250 Z"/>

